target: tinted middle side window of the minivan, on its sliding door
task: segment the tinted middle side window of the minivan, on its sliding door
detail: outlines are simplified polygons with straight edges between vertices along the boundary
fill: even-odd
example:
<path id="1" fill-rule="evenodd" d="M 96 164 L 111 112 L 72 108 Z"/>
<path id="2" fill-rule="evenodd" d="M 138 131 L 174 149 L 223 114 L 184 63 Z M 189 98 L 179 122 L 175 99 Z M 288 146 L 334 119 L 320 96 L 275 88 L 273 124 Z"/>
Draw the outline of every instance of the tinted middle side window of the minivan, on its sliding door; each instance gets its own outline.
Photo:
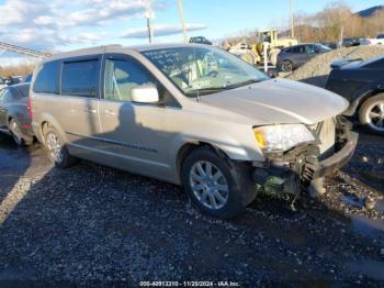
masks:
<path id="1" fill-rule="evenodd" d="M 95 98 L 98 96 L 99 59 L 63 64 L 61 95 Z"/>

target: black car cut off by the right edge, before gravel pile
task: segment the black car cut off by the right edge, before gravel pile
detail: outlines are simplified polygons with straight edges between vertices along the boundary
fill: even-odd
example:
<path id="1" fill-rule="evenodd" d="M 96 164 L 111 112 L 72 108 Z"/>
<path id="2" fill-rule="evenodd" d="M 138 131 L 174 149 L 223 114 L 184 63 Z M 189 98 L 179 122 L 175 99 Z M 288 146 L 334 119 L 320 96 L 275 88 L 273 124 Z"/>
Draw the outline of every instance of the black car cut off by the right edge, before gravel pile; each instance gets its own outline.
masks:
<path id="1" fill-rule="evenodd" d="M 384 135 L 384 55 L 369 60 L 338 60 L 331 68 L 326 89 L 350 102 L 345 114 L 359 114 L 362 125 Z"/>

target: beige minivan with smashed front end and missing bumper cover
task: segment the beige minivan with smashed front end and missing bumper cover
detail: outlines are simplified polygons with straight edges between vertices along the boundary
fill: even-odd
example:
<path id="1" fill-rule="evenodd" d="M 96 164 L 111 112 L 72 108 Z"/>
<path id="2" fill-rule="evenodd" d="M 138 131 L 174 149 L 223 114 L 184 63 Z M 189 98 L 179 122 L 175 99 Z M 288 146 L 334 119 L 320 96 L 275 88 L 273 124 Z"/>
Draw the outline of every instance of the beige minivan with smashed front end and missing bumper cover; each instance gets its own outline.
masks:
<path id="1" fill-rule="evenodd" d="M 54 55 L 36 67 L 31 99 L 34 133 L 58 167 L 82 158 L 182 185 L 218 218 L 261 189 L 324 190 L 358 141 L 339 117 L 343 98 L 200 44 Z"/>

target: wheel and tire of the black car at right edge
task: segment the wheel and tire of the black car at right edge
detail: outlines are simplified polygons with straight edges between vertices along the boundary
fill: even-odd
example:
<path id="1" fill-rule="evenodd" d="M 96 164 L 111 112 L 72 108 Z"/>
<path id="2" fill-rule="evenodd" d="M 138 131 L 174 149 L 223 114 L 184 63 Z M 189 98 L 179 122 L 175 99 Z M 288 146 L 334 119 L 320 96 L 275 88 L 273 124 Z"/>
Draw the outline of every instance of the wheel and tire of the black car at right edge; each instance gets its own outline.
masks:
<path id="1" fill-rule="evenodd" d="M 359 119 L 371 132 L 384 135 L 384 93 L 368 99 L 360 108 Z"/>

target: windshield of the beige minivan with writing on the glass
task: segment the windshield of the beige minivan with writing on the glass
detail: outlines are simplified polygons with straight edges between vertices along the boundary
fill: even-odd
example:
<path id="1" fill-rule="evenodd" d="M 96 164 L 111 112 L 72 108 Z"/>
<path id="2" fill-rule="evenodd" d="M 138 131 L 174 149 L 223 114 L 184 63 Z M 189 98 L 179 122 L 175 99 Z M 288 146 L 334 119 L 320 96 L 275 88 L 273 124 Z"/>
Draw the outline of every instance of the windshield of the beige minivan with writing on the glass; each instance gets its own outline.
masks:
<path id="1" fill-rule="evenodd" d="M 146 51 L 143 54 L 188 97 L 268 79 L 251 65 L 219 48 L 190 46 Z"/>

